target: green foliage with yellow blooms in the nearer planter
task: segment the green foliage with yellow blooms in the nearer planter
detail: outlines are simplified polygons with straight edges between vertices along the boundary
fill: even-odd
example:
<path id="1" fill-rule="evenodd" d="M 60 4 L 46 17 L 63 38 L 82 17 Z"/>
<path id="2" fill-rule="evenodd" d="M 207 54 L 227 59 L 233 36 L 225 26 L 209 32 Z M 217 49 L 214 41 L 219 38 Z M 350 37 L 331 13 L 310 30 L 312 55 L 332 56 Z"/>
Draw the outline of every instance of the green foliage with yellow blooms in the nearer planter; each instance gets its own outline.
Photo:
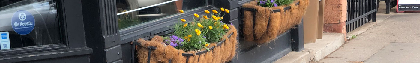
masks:
<path id="1" fill-rule="evenodd" d="M 211 15 L 214 15 L 214 14 L 212 13 Z M 204 16 L 207 16 L 207 14 Z M 223 16 L 220 16 L 220 13 L 216 14 L 215 16 L 223 17 Z M 201 15 L 199 18 L 194 17 L 193 21 L 186 21 L 186 22 L 180 21 L 176 23 L 173 26 L 173 29 L 174 29 L 173 34 L 178 37 L 183 38 L 184 42 L 181 43 L 182 46 L 178 46 L 175 48 L 179 50 L 184 50 L 184 51 L 194 51 L 194 50 L 200 50 L 202 48 L 205 48 L 206 44 L 219 42 L 220 39 L 223 37 L 223 35 L 226 34 L 227 32 L 226 29 L 223 29 L 223 25 L 225 24 L 220 21 L 223 21 L 223 20 L 218 19 L 216 21 L 211 16 L 209 16 L 208 19 L 205 19 L 203 15 Z M 185 24 L 188 24 L 188 25 L 184 27 Z M 202 27 L 200 27 L 198 24 L 201 24 Z M 210 29 L 209 26 L 212 26 L 213 29 Z M 201 34 L 197 35 L 197 32 L 195 31 L 195 29 L 198 29 L 199 31 L 201 31 Z M 191 35 L 191 37 L 189 37 L 189 35 Z"/>

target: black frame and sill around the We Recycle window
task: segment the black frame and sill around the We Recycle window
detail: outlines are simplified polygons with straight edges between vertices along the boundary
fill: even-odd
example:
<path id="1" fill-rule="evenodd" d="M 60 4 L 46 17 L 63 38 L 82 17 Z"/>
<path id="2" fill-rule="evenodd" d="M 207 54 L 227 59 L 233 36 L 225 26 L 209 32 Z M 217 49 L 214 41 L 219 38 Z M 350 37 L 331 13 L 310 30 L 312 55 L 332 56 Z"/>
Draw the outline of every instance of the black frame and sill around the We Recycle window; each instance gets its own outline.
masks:
<path id="1" fill-rule="evenodd" d="M 56 54 L 39 55 L 44 53 L 71 53 L 71 55 L 85 55 L 92 53 L 92 49 L 86 47 L 81 0 L 56 0 L 57 12 L 60 23 L 61 43 L 51 45 L 39 45 L 22 48 L 0 50 L 0 61 L 15 63 L 42 58 L 58 58 Z M 49 52 L 47 52 L 49 51 Z M 54 52 L 51 52 L 54 51 Z M 77 53 L 78 51 L 79 53 Z M 80 53 L 83 52 L 83 53 Z M 25 57 L 25 55 L 34 55 Z M 65 56 L 64 54 L 61 54 Z M 50 57 L 43 57 L 50 56 Z M 37 58 L 41 57 L 41 58 Z M 29 58 L 29 59 L 28 59 Z M 30 59 L 32 58 L 32 59 Z M 37 59 L 34 59 L 37 58 Z M 17 60 L 22 59 L 22 60 Z"/>

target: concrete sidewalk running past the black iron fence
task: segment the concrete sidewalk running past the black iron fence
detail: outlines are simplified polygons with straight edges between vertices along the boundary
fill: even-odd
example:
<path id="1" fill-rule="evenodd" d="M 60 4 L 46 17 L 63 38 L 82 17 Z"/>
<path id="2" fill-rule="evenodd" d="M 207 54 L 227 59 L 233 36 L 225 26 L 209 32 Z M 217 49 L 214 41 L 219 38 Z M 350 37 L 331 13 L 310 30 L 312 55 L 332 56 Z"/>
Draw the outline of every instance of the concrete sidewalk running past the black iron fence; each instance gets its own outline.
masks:
<path id="1" fill-rule="evenodd" d="M 316 63 L 419 63 L 420 13 L 393 13 L 394 9 L 383 14 L 381 10 L 378 21 L 383 21 L 358 28 L 365 30 Z"/>

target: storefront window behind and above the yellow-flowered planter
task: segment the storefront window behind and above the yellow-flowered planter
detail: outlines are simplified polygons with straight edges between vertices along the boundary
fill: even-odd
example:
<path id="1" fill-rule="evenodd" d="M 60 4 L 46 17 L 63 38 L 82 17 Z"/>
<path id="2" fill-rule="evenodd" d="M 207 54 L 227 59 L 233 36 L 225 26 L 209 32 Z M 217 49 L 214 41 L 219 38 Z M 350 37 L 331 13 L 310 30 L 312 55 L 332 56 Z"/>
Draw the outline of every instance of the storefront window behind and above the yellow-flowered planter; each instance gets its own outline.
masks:
<path id="1" fill-rule="evenodd" d="M 122 13 L 150 5 L 172 0 L 116 0 L 117 12 Z M 178 10 L 188 11 L 206 5 L 207 0 L 177 0 L 171 3 L 153 6 L 126 14 L 118 15 L 118 28 L 124 29 L 137 24 L 153 21 L 158 18 L 179 13 Z"/>

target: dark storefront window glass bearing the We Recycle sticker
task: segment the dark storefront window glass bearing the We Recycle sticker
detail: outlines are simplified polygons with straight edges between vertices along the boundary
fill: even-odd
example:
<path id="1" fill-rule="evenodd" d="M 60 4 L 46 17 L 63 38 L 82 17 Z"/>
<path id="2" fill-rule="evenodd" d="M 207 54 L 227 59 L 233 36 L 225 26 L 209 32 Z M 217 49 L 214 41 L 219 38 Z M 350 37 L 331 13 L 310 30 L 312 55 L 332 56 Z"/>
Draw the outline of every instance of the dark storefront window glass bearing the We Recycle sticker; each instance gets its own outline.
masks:
<path id="1" fill-rule="evenodd" d="M 0 0 L 0 49 L 61 43 L 56 0 Z"/>

